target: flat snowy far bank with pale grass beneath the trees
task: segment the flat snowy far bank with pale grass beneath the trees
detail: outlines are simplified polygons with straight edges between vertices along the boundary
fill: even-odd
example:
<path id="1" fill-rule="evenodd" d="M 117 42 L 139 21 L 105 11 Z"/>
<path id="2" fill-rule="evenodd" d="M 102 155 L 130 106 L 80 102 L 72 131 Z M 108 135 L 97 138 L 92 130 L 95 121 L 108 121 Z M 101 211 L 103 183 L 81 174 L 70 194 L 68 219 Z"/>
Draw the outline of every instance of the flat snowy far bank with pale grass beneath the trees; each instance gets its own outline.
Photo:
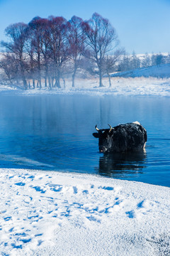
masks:
<path id="1" fill-rule="evenodd" d="M 103 78 L 103 87 L 98 87 L 98 78 L 77 79 L 76 87 L 72 87 L 72 81 L 66 80 L 66 87 L 61 89 L 39 88 L 30 90 L 15 90 L 21 95 L 130 95 L 130 96 L 170 96 L 170 78 L 111 78 L 112 86 L 109 87 L 108 78 Z M 4 91 L 1 89 L 0 92 Z M 9 91 L 8 87 L 8 91 Z M 11 87 L 11 90 L 12 87 Z"/>

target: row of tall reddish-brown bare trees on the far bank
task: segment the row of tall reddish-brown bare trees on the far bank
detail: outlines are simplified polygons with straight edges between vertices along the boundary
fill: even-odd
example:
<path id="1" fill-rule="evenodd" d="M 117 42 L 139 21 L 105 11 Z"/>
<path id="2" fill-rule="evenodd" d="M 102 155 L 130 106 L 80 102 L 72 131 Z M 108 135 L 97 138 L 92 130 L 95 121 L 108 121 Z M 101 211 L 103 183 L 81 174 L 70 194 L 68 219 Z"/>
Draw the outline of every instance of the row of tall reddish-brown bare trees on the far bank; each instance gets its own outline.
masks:
<path id="1" fill-rule="evenodd" d="M 115 28 L 108 19 L 93 14 L 89 21 L 73 16 L 33 18 L 30 23 L 14 23 L 5 30 L 8 41 L 1 41 L 4 53 L 0 60 L 4 79 L 29 87 L 61 87 L 69 74 L 72 86 L 79 68 L 102 78 L 110 74 L 121 50 Z M 112 55 L 111 55 L 112 53 Z M 1 72 L 2 73 L 2 72 Z"/>

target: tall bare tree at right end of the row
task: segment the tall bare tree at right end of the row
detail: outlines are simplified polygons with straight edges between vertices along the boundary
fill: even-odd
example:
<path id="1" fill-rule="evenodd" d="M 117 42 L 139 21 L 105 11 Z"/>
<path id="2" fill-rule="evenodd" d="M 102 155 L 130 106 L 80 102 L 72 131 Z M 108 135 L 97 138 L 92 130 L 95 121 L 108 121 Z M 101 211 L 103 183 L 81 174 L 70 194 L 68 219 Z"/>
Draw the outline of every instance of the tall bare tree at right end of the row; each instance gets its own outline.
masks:
<path id="1" fill-rule="evenodd" d="M 106 55 L 118 44 L 115 28 L 107 18 L 94 13 L 89 21 L 82 23 L 83 31 L 86 35 L 87 46 L 91 54 L 89 58 L 94 61 L 99 75 L 99 86 L 103 86 L 102 78 L 104 74 L 104 63 Z"/>

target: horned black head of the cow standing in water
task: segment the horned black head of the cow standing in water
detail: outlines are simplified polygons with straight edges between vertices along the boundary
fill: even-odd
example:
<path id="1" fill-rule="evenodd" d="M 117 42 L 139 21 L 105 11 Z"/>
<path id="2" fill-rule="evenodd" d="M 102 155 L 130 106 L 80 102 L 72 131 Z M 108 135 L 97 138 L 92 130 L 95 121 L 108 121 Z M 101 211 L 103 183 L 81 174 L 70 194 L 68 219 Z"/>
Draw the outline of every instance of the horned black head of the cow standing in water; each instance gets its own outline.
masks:
<path id="1" fill-rule="evenodd" d="M 111 150 L 113 144 L 113 129 L 110 124 L 108 124 L 110 129 L 98 129 L 96 125 L 96 131 L 93 135 L 98 138 L 99 151 L 105 153 Z"/>

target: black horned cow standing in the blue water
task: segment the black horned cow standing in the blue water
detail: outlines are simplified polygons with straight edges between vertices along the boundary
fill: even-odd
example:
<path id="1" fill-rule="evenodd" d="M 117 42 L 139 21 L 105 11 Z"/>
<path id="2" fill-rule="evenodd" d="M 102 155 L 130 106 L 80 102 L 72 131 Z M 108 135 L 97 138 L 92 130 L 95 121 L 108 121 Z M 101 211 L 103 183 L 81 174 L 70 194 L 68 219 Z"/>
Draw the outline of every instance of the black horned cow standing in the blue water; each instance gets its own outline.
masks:
<path id="1" fill-rule="evenodd" d="M 98 138 L 99 151 L 106 152 L 128 152 L 142 151 L 147 142 L 147 131 L 139 122 L 119 124 L 109 129 L 98 129 L 93 135 Z"/>

